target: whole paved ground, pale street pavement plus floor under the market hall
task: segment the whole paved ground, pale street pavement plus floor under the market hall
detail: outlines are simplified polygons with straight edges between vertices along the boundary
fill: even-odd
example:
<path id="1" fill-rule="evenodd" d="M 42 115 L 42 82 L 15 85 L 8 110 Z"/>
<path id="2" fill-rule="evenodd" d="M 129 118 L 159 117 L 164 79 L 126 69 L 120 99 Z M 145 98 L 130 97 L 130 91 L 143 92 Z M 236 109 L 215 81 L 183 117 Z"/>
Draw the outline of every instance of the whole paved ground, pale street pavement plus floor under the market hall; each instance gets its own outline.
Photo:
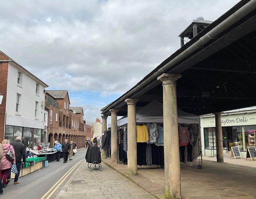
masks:
<path id="1" fill-rule="evenodd" d="M 180 165 L 183 199 L 256 198 L 256 160 L 230 159 L 229 154 L 224 163 L 217 163 L 216 157 L 203 159 L 203 169 L 198 169 L 198 160 L 192 166 Z M 128 176 L 127 165 L 102 162 L 102 171 L 92 167 L 91 172 L 84 162 L 56 198 L 165 198 L 163 168 L 138 166 L 138 175 Z"/>

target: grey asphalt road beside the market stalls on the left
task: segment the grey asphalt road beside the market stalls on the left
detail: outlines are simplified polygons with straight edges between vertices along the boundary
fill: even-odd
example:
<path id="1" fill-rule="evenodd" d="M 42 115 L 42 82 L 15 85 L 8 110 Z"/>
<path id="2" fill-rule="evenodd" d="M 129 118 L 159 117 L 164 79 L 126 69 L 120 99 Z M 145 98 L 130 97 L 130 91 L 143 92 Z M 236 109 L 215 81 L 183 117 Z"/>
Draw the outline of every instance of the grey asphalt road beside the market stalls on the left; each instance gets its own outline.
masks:
<path id="1" fill-rule="evenodd" d="M 11 179 L 11 182 L 3 188 L 4 194 L 1 195 L 0 198 L 41 199 L 65 174 L 69 173 L 69 170 L 75 166 L 76 163 L 84 160 L 85 153 L 85 150 L 78 151 L 75 156 L 72 156 L 73 160 L 68 160 L 67 163 L 63 163 L 63 158 L 60 159 L 60 162 L 49 162 L 48 167 L 44 167 L 19 178 L 18 181 L 20 184 L 14 185 L 13 179 Z M 74 171 L 76 171 L 76 168 L 70 172 L 67 178 L 63 178 L 63 180 L 58 182 L 59 187 L 56 188 L 56 190 L 54 188 L 49 192 L 50 194 L 55 190 L 50 198 L 57 196 L 61 187 L 65 185 Z M 44 198 L 47 198 L 47 196 Z"/>

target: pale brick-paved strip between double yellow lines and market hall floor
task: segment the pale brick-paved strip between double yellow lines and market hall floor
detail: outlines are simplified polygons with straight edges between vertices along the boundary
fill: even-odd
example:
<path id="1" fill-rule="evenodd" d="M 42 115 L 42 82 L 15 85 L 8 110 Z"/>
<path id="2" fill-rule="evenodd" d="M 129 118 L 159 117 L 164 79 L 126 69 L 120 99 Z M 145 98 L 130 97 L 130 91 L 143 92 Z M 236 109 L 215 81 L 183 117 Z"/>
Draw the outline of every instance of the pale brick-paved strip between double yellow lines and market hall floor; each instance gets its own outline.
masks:
<path id="1" fill-rule="evenodd" d="M 84 161 L 58 193 L 56 199 L 152 199 L 138 185 L 129 181 L 110 167 L 87 167 Z"/>

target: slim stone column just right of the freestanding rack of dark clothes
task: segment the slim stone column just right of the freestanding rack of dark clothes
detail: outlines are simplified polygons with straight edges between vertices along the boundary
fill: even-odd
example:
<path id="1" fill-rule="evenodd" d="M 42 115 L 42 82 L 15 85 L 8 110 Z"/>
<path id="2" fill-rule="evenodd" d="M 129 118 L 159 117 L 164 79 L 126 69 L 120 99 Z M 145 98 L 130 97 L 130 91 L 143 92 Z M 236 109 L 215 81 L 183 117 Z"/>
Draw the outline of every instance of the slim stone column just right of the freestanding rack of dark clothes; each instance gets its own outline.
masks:
<path id="1" fill-rule="evenodd" d="M 111 162 L 118 163 L 117 143 L 117 112 L 118 109 L 111 109 Z"/>

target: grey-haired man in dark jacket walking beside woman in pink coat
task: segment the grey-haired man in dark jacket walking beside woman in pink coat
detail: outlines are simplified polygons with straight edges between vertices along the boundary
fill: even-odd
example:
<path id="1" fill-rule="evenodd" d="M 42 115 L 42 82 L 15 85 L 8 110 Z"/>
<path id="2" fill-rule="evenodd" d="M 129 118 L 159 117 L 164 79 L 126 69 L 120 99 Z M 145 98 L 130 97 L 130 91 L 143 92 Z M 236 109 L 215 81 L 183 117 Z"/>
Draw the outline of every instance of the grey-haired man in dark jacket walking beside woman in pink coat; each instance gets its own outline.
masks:
<path id="1" fill-rule="evenodd" d="M 14 178 L 14 184 L 17 185 L 20 182 L 18 182 L 18 178 L 20 176 L 20 167 L 21 164 L 24 164 L 24 162 L 26 161 L 26 150 L 25 150 L 25 146 L 24 144 L 21 143 L 21 137 L 18 136 L 14 142 L 11 143 L 11 145 L 14 148 L 15 151 L 15 164 L 18 170 L 18 173 L 15 174 L 15 178 Z M 6 185 L 8 185 L 8 183 L 11 180 L 11 170 L 9 170 L 8 173 L 8 177 L 6 180 Z"/>

